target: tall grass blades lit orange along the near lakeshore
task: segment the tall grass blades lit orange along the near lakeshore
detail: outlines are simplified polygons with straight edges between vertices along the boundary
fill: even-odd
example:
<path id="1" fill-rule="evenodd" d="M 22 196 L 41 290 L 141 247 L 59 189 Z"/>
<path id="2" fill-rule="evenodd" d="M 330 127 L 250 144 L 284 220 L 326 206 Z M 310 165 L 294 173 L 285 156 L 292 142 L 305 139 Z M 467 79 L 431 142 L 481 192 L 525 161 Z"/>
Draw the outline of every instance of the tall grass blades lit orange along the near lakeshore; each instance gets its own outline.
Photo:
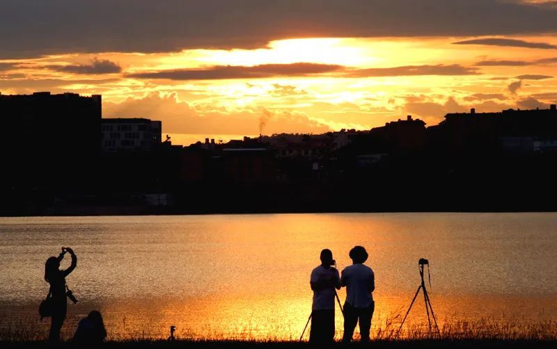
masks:
<path id="1" fill-rule="evenodd" d="M 75 329 L 77 316 L 66 320 L 63 327 L 63 338 L 70 339 L 72 330 Z M 374 319 L 371 338 L 375 341 L 421 341 L 427 339 L 442 340 L 503 340 L 503 341 L 556 341 L 556 320 L 500 320 L 496 318 L 482 318 L 480 320 L 444 320 L 439 323 L 439 332 L 432 323 L 430 331 L 427 322 L 405 323 L 400 332 L 400 314 L 387 316 L 386 318 Z M 0 318 L 0 341 L 42 341 L 47 338 L 49 319 L 42 323 L 33 322 L 30 319 L 21 318 L 17 322 L 8 322 L 6 318 Z M 149 324 L 144 328 L 128 332 L 125 325 L 123 328 L 107 328 L 110 341 L 157 341 L 166 339 L 162 329 L 152 329 Z M 299 340 L 301 333 L 294 333 L 291 329 L 279 327 L 262 328 L 260 325 L 241 325 L 232 332 L 226 334 L 218 328 L 205 327 L 202 333 L 189 329 L 181 330 L 175 335 L 185 341 L 250 341 L 250 342 L 295 342 Z M 308 339 L 309 328 L 306 330 L 303 341 Z M 340 340 L 343 334 L 342 328 L 337 328 L 336 339 Z M 354 340 L 359 339 L 356 328 Z"/>

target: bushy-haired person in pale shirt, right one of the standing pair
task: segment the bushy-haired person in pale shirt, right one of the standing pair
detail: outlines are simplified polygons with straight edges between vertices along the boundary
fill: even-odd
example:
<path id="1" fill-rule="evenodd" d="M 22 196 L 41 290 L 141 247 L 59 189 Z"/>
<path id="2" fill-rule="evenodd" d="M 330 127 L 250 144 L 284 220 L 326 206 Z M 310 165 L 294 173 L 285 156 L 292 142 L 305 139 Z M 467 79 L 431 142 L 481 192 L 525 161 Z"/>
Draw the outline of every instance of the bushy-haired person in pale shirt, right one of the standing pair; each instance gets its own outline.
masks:
<path id="1" fill-rule="evenodd" d="M 350 343 L 356 328 L 360 325 L 361 342 L 370 341 L 370 327 L 375 302 L 372 292 L 375 290 L 375 274 L 363 262 L 368 259 L 368 252 L 362 246 L 350 250 L 352 266 L 344 268 L 340 285 L 346 286 L 346 301 L 344 304 L 344 336 L 343 343 Z"/>

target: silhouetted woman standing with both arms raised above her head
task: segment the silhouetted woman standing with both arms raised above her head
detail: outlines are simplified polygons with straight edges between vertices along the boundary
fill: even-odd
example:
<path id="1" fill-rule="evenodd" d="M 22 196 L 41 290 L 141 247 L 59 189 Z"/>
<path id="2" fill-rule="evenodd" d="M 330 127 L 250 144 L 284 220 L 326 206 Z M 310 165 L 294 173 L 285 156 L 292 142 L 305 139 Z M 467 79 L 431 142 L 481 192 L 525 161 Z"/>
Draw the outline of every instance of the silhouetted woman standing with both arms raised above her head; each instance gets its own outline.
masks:
<path id="1" fill-rule="evenodd" d="M 66 270 L 60 270 L 60 261 L 64 258 L 65 252 L 72 256 L 72 265 Z M 60 330 L 65 320 L 65 313 L 68 309 L 66 299 L 65 277 L 77 266 L 77 257 L 70 247 L 62 247 L 62 253 L 58 257 L 50 257 L 45 263 L 45 280 L 50 284 L 50 292 L 54 303 L 52 318 L 50 322 L 49 341 L 60 341 Z"/>

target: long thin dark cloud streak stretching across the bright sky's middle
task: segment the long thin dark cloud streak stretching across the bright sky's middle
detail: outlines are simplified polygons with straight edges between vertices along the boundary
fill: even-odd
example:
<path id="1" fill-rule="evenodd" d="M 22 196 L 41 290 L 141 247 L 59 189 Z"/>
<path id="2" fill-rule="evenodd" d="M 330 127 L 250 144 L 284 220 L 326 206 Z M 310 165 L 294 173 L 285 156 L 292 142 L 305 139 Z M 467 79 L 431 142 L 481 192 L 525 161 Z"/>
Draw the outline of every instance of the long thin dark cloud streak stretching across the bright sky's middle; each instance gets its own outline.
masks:
<path id="1" fill-rule="evenodd" d="M 217 80 L 217 79 L 263 79 L 275 76 L 312 76 L 333 74 L 336 77 L 416 76 L 416 75 L 473 75 L 480 74 L 476 67 L 462 65 L 408 65 L 389 68 L 355 69 L 342 65 L 320 63 L 265 64 L 247 67 L 243 65 L 217 65 L 201 69 L 162 70 L 129 74 L 136 79 L 171 80 Z"/>

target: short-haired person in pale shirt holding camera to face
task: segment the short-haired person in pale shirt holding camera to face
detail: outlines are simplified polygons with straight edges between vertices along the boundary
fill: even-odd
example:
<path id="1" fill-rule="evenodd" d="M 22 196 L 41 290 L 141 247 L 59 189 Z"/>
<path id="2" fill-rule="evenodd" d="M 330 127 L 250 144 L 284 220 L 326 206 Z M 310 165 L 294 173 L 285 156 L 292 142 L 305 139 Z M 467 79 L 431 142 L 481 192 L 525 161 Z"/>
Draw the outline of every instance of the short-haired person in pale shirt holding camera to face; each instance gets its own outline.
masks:
<path id="1" fill-rule="evenodd" d="M 311 271 L 310 286 L 313 290 L 311 306 L 311 343 L 333 343 L 335 336 L 335 289 L 340 289 L 338 270 L 329 249 L 321 251 L 321 265 Z"/>

